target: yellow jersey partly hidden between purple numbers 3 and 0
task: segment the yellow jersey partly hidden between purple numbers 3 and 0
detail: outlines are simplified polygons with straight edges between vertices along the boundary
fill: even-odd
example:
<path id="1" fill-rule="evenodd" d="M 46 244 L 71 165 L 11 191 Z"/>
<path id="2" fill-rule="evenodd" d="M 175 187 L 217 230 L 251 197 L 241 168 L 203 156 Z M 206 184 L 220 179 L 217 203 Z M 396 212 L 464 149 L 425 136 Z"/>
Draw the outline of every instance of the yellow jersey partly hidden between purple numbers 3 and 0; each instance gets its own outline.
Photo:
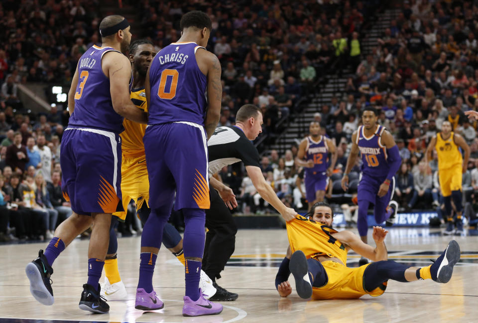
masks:
<path id="1" fill-rule="evenodd" d="M 144 88 L 131 90 L 131 101 L 136 107 L 147 112 L 146 93 Z M 121 136 L 121 150 L 124 157 L 144 156 L 143 136 L 146 125 L 139 124 L 126 118 L 123 121 L 124 131 L 119 134 Z"/>

